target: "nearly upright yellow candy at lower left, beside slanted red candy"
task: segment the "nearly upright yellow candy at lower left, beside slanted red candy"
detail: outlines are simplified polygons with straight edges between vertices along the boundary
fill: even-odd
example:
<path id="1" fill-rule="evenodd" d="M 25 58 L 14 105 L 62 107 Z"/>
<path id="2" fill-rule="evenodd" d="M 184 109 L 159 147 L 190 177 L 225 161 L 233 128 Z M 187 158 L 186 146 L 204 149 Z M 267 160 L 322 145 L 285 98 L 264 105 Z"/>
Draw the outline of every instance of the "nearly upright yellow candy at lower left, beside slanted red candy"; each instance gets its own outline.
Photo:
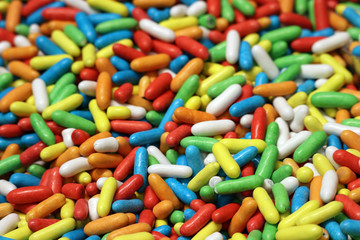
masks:
<path id="1" fill-rule="evenodd" d="M 117 183 L 115 178 L 109 177 L 106 179 L 99 197 L 97 205 L 97 213 L 100 217 L 105 217 L 110 213 L 111 204 L 116 192 Z"/>

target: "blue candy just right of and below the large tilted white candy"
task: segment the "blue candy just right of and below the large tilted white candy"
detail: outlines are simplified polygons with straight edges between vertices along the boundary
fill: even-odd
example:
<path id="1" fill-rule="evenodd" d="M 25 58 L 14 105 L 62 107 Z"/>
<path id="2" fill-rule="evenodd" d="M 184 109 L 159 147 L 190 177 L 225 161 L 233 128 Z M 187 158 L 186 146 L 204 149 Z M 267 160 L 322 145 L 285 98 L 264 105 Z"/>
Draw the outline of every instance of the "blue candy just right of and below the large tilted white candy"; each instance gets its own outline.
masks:
<path id="1" fill-rule="evenodd" d="M 254 112 L 256 108 L 262 107 L 265 99 L 261 96 L 252 96 L 230 106 L 229 112 L 233 117 L 242 117 L 247 113 Z"/>

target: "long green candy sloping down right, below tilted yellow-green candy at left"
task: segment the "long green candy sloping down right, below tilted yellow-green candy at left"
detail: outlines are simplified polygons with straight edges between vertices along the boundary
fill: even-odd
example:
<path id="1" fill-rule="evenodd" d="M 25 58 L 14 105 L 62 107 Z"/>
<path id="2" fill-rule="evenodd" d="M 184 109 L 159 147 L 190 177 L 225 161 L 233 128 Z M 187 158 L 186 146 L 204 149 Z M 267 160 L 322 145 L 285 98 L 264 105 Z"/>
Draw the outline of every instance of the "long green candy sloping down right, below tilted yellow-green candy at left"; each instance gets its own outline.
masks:
<path id="1" fill-rule="evenodd" d="M 96 132 L 96 126 L 92 121 L 66 111 L 56 110 L 51 114 L 51 118 L 55 123 L 66 128 L 81 129 L 90 135 Z"/>

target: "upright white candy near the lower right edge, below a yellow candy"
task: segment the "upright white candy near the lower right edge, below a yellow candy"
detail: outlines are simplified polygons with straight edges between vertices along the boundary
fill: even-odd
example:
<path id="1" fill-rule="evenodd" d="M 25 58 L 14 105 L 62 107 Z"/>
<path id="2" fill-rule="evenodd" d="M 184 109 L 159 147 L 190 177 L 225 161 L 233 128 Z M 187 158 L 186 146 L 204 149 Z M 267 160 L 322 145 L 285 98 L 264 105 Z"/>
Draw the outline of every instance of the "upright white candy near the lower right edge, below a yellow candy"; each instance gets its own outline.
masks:
<path id="1" fill-rule="evenodd" d="M 324 203 L 328 203 L 335 198 L 339 179 L 334 170 L 328 170 L 321 182 L 320 198 Z"/>

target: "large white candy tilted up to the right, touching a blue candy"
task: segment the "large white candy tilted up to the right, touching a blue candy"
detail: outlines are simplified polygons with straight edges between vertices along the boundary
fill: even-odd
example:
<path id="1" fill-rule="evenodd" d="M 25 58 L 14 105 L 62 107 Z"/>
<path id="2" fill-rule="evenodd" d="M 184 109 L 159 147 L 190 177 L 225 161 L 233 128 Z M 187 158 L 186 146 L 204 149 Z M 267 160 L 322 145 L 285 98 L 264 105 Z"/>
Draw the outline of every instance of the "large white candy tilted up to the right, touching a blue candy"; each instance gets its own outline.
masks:
<path id="1" fill-rule="evenodd" d="M 240 95 L 241 85 L 232 84 L 207 105 L 206 112 L 211 113 L 216 117 L 220 116 L 240 97 Z"/>

